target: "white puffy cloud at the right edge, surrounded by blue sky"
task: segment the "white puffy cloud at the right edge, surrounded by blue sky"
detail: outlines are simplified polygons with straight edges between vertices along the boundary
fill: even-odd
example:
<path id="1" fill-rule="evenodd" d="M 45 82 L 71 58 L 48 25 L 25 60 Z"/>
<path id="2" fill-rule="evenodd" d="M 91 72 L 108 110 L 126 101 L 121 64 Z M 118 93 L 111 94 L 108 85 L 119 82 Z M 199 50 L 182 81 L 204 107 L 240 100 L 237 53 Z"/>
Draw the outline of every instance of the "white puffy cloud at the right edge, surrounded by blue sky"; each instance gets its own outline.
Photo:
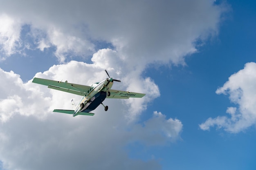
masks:
<path id="1" fill-rule="evenodd" d="M 228 107 L 228 116 L 209 118 L 200 124 L 202 130 L 212 126 L 224 128 L 227 132 L 238 133 L 256 124 L 256 63 L 245 64 L 245 68 L 234 73 L 217 89 L 217 94 L 229 95 L 236 107 Z"/>

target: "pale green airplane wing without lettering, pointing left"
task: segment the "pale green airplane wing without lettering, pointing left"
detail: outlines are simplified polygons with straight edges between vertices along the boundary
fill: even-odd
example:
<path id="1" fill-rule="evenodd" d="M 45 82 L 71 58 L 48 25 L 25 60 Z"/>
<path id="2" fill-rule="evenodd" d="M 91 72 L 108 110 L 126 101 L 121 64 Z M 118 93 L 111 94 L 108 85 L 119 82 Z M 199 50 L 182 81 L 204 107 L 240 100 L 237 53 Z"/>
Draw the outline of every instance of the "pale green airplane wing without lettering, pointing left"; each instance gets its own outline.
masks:
<path id="1" fill-rule="evenodd" d="M 73 94 L 81 95 L 81 96 L 88 94 L 88 91 L 90 90 L 90 86 L 68 83 L 67 81 L 58 82 L 58 81 L 54 81 L 54 80 L 41 79 L 41 78 L 35 77 L 32 82 L 48 86 L 48 88 L 52 88 L 52 89 L 55 89 L 58 91 L 64 91 L 67 93 L 73 93 Z"/>

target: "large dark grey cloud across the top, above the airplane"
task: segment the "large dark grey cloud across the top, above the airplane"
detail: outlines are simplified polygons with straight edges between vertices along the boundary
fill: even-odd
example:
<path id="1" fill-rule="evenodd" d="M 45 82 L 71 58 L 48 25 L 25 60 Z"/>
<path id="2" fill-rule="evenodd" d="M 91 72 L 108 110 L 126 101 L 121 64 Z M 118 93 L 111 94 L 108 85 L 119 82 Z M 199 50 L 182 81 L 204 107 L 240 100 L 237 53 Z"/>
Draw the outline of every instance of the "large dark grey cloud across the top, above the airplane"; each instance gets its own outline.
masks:
<path id="1" fill-rule="evenodd" d="M 38 48 L 42 50 L 43 42 L 47 47 L 56 46 L 60 62 L 70 55 L 90 56 L 95 52 L 93 42 L 104 41 L 112 43 L 126 64 L 138 62 L 142 67 L 152 62 L 184 64 L 184 56 L 197 51 L 197 39 L 218 33 L 225 10 L 224 5 L 214 5 L 211 0 L 12 0 L 0 7 L 12 21 L 9 27 L 16 28 L 10 33 L 14 42 L 18 41 L 20 25 L 28 24 Z M 42 32 L 47 36 L 41 37 Z M 10 46 L 15 49 L 13 43 Z M 7 46 L 2 49 L 8 51 Z"/>

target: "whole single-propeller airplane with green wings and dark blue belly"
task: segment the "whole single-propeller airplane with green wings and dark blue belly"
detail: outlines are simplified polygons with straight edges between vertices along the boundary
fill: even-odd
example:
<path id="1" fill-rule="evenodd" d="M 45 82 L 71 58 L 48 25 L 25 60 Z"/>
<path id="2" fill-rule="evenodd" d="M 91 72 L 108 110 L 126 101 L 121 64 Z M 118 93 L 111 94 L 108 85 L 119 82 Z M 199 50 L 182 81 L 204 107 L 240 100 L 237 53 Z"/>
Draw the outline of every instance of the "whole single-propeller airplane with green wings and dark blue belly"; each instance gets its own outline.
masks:
<path id="1" fill-rule="evenodd" d="M 106 71 L 106 70 L 105 70 Z M 67 113 L 72 114 L 73 117 L 77 115 L 89 115 L 93 116 L 94 113 L 90 113 L 90 111 L 96 109 L 100 104 L 104 106 L 102 103 L 106 98 L 110 99 L 129 99 L 130 97 L 141 98 L 144 97 L 143 93 L 134 93 L 130 91 L 119 91 L 112 90 L 111 87 L 113 82 L 121 82 L 120 80 L 113 79 L 109 76 L 109 78 L 104 79 L 102 82 L 94 83 L 92 86 L 85 86 L 80 84 L 68 83 L 67 81 L 54 81 L 49 79 L 41 79 L 34 77 L 33 83 L 42 84 L 48 86 L 48 88 L 64 91 L 67 93 L 72 93 L 75 95 L 81 95 L 78 105 L 75 110 L 60 110 L 54 109 L 53 112 L 58 113 Z M 74 102 L 74 101 L 73 101 Z M 108 110 L 108 106 L 104 106 L 105 111 Z"/>

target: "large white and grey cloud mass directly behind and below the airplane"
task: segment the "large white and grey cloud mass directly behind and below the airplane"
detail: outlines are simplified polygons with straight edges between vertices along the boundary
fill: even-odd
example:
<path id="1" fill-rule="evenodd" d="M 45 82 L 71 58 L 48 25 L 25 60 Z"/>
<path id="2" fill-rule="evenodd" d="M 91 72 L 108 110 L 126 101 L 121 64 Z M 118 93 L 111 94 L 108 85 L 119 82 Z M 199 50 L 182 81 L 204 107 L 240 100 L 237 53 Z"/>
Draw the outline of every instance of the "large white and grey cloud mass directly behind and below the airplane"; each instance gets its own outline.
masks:
<path id="1" fill-rule="evenodd" d="M 105 52 L 115 53 L 108 49 Z M 94 59 L 97 60 L 100 56 L 95 54 Z M 98 62 L 86 64 L 72 61 L 52 66 L 44 73 L 37 73 L 36 77 L 90 85 L 107 77 L 101 68 L 102 61 Z M 117 73 L 111 68 L 111 63 L 109 68 L 110 75 L 129 79 L 129 75 Z M 157 160 L 130 159 L 124 147 L 135 141 L 146 145 L 159 145 L 180 139 L 180 120 L 166 119 L 162 113 L 154 112 L 153 117 L 143 124 L 128 122 L 124 108 L 130 108 L 133 113 L 141 112 L 145 108 L 132 108 L 132 103 L 123 103 L 119 99 L 106 99 L 104 103 L 109 106 L 108 112 L 99 106 L 93 111 L 96 113 L 93 117 L 52 113 L 54 108 L 71 109 L 71 98 L 74 97 L 74 101 L 78 102 L 80 97 L 50 90 L 47 86 L 31 83 L 31 80 L 23 83 L 20 76 L 12 71 L 0 70 L 0 74 L 2 82 L 5 83 L 0 86 L 0 160 L 8 170 L 65 170 L 85 167 L 156 170 L 161 168 Z M 152 80 L 140 80 L 150 82 L 155 87 L 153 91 L 148 91 L 147 95 L 159 93 Z M 121 86 L 122 84 L 124 83 L 115 85 L 117 89 L 128 86 Z M 144 85 L 138 83 L 131 86 L 131 90 L 138 91 L 143 89 Z M 149 102 L 149 99 L 142 102 L 140 100 L 137 99 L 137 102 L 144 106 Z M 138 114 L 131 116 L 136 119 Z"/>

